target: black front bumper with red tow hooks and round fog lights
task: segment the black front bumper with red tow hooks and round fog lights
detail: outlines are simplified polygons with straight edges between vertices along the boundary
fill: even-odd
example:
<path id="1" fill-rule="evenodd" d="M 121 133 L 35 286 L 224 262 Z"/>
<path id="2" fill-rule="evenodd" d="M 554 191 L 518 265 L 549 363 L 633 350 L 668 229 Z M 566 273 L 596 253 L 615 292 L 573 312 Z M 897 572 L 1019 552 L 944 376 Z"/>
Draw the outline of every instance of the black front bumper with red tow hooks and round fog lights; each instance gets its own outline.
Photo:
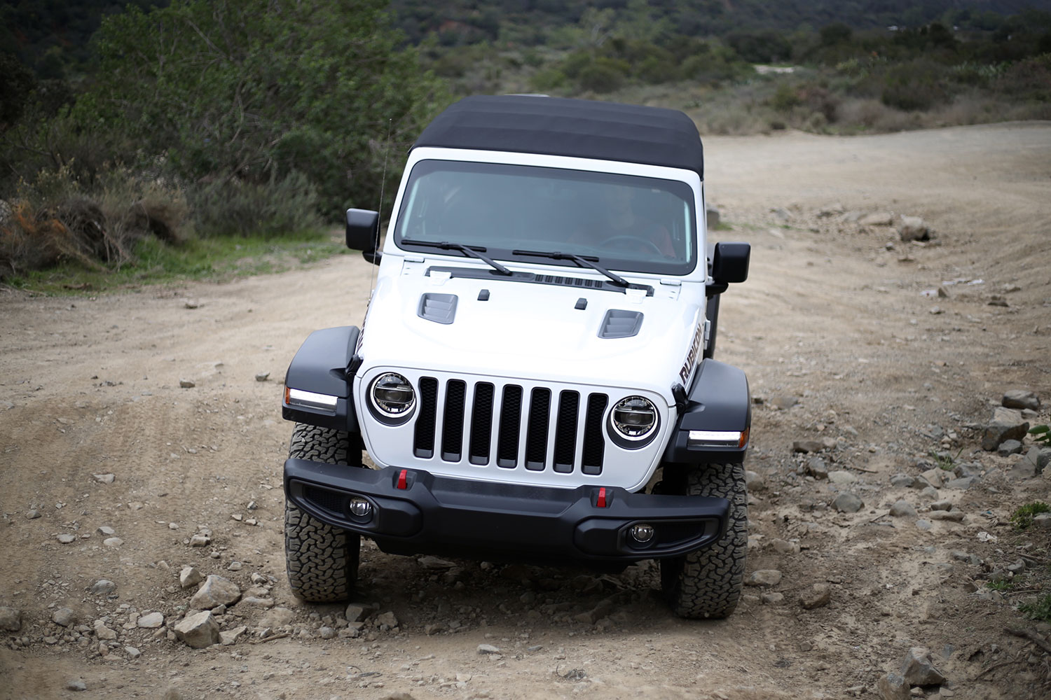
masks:
<path id="1" fill-rule="evenodd" d="M 600 507 L 599 492 L 598 486 L 569 490 L 451 479 L 398 467 L 285 462 L 285 496 L 291 504 L 396 554 L 626 564 L 680 556 L 710 545 L 725 530 L 725 499 L 606 487 L 605 507 Z M 352 497 L 369 502 L 367 517 L 351 513 Z M 636 542 L 628 534 L 637 524 L 653 526 L 650 542 Z"/>

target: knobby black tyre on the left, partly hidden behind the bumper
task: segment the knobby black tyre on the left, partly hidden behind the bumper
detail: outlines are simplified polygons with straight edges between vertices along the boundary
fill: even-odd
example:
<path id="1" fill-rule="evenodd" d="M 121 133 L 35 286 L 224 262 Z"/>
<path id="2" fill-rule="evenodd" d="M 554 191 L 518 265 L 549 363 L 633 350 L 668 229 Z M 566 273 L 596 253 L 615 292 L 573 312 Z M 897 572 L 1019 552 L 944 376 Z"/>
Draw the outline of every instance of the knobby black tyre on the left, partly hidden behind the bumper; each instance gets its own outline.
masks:
<path id="1" fill-rule="evenodd" d="M 288 457 L 360 466 L 346 432 L 296 423 Z M 355 459 L 355 457 L 357 459 Z M 292 593 L 309 602 L 346 600 L 357 580 L 360 535 L 326 525 L 285 502 L 285 561 Z"/>

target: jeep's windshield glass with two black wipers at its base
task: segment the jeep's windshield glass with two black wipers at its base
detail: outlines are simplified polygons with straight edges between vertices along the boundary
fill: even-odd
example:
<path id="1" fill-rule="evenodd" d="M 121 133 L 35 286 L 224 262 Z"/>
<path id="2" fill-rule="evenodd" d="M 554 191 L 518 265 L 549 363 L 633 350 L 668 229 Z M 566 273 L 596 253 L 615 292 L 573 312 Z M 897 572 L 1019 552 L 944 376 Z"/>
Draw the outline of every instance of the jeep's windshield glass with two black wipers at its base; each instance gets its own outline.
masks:
<path id="1" fill-rule="evenodd" d="M 394 236 L 410 250 L 412 240 L 450 242 L 483 247 L 493 258 L 543 261 L 512 253 L 528 249 L 593 256 L 617 270 L 684 275 L 696 266 L 694 212 L 693 189 L 679 181 L 420 161 L 409 175 Z"/>

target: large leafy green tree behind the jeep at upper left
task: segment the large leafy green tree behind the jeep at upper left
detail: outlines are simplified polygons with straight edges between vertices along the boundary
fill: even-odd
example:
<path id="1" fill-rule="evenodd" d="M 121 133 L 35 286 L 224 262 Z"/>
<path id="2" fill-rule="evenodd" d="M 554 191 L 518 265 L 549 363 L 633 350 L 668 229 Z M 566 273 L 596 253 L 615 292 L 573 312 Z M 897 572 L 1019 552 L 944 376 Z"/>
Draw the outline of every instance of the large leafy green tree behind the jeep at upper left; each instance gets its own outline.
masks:
<path id="1" fill-rule="evenodd" d="M 388 153 L 441 100 L 383 0 L 176 0 L 103 21 L 75 114 L 197 182 L 301 172 L 326 208 L 375 206 Z M 441 106 L 441 105 L 437 105 Z M 397 163 L 388 169 L 393 177 Z"/>

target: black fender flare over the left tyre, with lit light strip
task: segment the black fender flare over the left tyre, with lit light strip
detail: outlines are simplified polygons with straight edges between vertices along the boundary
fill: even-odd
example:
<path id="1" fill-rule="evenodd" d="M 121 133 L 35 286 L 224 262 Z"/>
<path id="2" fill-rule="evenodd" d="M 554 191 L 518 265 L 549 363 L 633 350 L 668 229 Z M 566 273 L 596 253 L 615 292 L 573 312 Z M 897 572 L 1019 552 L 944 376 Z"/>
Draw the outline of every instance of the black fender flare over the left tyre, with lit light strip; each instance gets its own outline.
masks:
<path id="1" fill-rule="evenodd" d="M 285 374 L 281 417 L 286 421 L 357 433 L 351 389 L 354 352 L 360 330 L 355 325 L 314 331 L 300 345 Z M 324 399 L 324 405 L 302 393 Z M 297 396 L 298 394 L 298 396 Z M 334 399 L 334 401 L 333 401 Z"/>

